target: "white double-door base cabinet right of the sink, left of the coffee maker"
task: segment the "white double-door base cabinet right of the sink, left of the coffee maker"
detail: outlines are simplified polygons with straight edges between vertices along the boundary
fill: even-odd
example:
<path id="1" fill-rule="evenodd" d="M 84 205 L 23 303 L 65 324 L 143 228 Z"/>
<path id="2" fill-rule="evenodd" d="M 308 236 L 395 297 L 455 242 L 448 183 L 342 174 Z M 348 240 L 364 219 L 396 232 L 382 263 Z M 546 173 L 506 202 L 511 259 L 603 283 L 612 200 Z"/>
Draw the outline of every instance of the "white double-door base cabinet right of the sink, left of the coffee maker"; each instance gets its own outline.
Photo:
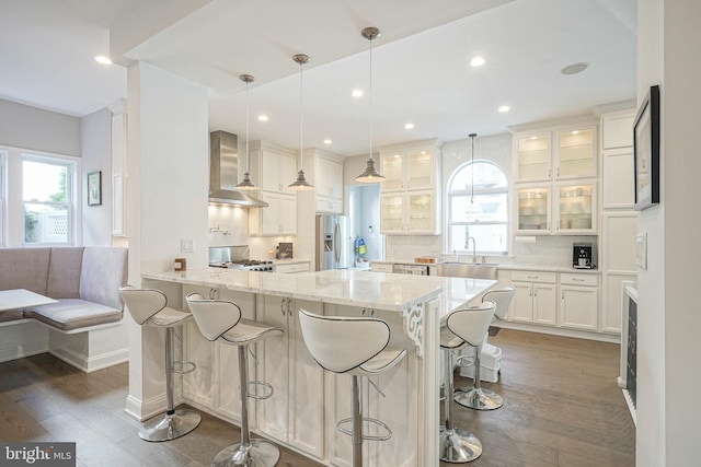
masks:
<path id="1" fill-rule="evenodd" d="M 516 288 L 509 320 L 555 326 L 558 324 L 558 275 L 555 272 L 513 271 Z"/>

